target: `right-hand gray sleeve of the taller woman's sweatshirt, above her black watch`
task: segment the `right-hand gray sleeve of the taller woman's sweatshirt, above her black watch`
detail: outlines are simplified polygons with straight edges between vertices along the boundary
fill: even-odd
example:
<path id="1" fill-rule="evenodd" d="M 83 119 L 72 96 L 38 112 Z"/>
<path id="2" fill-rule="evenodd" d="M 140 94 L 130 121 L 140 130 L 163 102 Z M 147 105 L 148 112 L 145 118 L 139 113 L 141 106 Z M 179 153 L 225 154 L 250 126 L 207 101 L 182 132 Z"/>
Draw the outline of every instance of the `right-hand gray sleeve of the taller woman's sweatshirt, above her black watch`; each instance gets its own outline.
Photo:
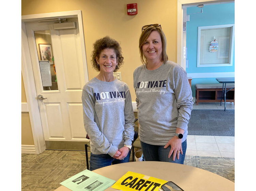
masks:
<path id="1" fill-rule="evenodd" d="M 175 67 L 174 76 L 175 97 L 177 99 L 178 109 L 177 128 L 185 130 L 193 109 L 192 91 L 184 69 L 181 67 Z"/>

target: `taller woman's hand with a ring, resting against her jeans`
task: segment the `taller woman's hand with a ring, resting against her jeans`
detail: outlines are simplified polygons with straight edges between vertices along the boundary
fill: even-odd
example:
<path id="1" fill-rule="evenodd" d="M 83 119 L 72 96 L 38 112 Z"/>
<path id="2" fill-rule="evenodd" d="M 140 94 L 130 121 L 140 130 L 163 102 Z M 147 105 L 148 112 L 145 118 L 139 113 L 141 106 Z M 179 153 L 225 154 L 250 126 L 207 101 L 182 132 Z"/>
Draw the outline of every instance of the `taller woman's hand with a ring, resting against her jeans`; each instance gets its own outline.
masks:
<path id="1" fill-rule="evenodd" d="M 171 146 L 171 149 L 170 149 L 168 158 L 170 158 L 170 157 L 171 157 L 171 154 L 174 153 L 172 160 L 175 161 L 175 157 L 176 157 L 176 156 L 177 156 L 177 159 L 178 159 L 178 160 L 180 159 L 180 154 L 183 154 L 181 143 L 182 143 L 182 139 L 179 139 L 179 138 L 176 137 L 176 136 L 175 136 L 175 137 L 172 137 L 172 138 L 167 142 L 167 144 L 164 146 L 164 148 L 166 149 L 167 147 Z"/>

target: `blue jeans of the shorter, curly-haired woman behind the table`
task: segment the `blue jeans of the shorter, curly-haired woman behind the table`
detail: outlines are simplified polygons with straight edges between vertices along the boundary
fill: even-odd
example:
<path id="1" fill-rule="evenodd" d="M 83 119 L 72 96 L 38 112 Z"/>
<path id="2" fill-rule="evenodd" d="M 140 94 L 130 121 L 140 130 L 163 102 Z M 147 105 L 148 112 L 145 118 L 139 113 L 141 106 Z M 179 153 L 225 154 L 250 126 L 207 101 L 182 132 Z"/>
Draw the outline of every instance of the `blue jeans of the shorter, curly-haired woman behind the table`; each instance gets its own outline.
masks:
<path id="1" fill-rule="evenodd" d="M 99 169 L 102 167 L 106 167 L 109 165 L 115 165 L 119 163 L 128 163 L 130 161 L 131 151 L 127 154 L 127 156 L 123 160 L 118 160 L 111 157 L 109 154 L 92 154 L 90 156 L 90 171 Z"/>

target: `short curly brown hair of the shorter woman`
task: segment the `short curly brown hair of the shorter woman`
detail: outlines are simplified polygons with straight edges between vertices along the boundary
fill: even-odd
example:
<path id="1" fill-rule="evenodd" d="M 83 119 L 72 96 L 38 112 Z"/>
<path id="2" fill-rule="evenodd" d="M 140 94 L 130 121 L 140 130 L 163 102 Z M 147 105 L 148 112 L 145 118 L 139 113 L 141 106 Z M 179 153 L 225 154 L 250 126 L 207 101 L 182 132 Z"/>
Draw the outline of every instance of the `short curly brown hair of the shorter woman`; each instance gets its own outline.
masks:
<path id="1" fill-rule="evenodd" d="M 123 56 L 122 56 L 122 50 L 120 44 L 115 40 L 110 38 L 109 36 L 105 36 L 101 39 L 98 39 L 93 44 L 93 51 L 91 53 L 91 63 L 92 68 L 94 68 L 96 71 L 100 71 L 100 66 L 98 65 L 96 61 L 96 57 L 100 57 L 101 51 L 104 49 L 114 49 L 116 53 L 116 58 L 118 65 L 115 68 L 114 72 L 118 71 L 121 65 L 123 65 Z"/>

